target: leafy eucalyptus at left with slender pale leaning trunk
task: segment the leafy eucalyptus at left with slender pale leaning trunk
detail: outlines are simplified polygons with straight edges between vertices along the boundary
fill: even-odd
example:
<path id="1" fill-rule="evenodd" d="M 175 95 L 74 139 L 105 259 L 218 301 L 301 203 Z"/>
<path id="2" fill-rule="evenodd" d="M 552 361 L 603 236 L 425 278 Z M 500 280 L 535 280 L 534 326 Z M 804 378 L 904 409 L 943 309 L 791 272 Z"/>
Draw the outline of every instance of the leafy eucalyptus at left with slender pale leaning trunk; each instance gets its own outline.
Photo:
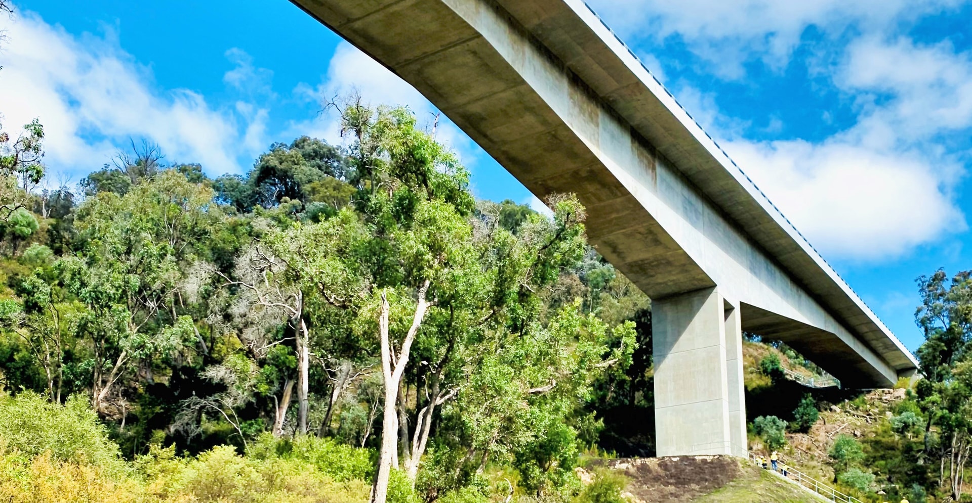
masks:
<path id="1" fill-rule="evenodd" d="M 220 219 L 212 189 L 172 170 L 124 195 L 100 192 L 78 209 L 81 250 L 58 267 L 62 285 L 86 308 L 78 331 L 90 344 L 97 412 L 107 413 L 108 399 L 135 370 L 151 376 L 157 358 L 204 345 L 180 287 Z"/>

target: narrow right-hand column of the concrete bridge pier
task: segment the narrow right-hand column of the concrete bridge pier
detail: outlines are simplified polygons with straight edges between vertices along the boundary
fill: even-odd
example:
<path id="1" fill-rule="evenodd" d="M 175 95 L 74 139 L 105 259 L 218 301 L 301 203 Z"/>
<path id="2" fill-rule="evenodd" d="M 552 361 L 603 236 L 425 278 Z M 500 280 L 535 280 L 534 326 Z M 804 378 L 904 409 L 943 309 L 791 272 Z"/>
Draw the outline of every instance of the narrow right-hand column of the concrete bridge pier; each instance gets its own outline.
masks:
<path id="1" fill-rule="evenodd" d="M 733 455 L 746 457 L 746 386 L 743 383 L 743 325 L 738 305 L 724 301 L 726 383 L 729 386 L 729 440 Z"/>

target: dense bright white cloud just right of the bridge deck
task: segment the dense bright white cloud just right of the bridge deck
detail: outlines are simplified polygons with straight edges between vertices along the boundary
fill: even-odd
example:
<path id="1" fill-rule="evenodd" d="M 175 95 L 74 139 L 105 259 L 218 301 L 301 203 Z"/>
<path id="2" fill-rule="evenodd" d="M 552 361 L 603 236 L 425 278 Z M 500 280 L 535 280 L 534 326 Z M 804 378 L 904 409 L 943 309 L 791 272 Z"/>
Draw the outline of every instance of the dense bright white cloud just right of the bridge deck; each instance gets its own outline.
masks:
<path id="1" fill-rule="evenodd" d="M 965 230 L 941 170 L 919 151 L 875 151 L 842 135 L 823 144 L 737 140 L 726 151 L 824 256 L 881 259 Z"/>

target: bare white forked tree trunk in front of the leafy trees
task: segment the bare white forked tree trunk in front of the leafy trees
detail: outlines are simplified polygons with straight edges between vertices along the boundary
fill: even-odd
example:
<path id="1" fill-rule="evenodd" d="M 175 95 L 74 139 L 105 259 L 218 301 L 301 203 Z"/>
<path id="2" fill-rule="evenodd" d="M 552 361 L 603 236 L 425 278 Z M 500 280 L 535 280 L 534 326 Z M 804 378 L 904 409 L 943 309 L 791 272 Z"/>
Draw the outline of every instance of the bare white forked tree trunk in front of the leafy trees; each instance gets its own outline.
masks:
<path id="1" fill-rule="evenodd" d="M 398 407 L 399 386 L 401 376 L 405 372 L 408 364 L 408 356 L 411 351 L 412 342 L 415 334 L 425 319 L 429 304 L 426 302 L 426 292 L 429 290 L 429 281 L 419 288 L 418 302 L 415 305 L 415 314 L 412 317 L 412 325 L 408 328 L 404 340 L 401 342 L 399 357 L 393 361 L 392 344 L 388 333 L 388 317 L 391 307 L 388 305 L 388 298 L 384 292 L 381 294 L 381 311 L 378 320 L 378 335 L 381 338 L 381 371 L 385 388 L 385 409 L 382 411 L 384 420 L 381 430 L 381 452 L 378 455 L 378 473 L 375 477 L 374 491 L 371 494 L 371 503 L 387 503 L 388 500 L 388 480 L 392 473 L 393 463 L 397 463 L 398 457 Z"/>

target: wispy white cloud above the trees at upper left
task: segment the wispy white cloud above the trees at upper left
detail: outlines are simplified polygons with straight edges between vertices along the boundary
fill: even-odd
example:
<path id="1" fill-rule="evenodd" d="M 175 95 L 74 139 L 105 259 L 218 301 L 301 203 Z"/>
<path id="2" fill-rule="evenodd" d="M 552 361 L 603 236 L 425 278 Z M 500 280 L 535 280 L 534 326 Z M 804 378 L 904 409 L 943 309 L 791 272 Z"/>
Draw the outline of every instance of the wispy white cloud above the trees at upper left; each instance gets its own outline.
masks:
<path id="1" fill-rule="evenodd" d="M 265 112 L 240 117 L 233 109 L 211 108 L 197 92 L 156 89 L 151 71 L 121 50 L 112 33 L 76 37 L 25 11 L 0 23 L 8 35 L 0 53 L 4 126 L 15 130 L 39 117 L 54 172 L 100 167 L 129 137 L 156 142 L 169 160 L 237 172 L 240 156 L 260 143 L 254 137 Z M 242 54 L 231 55 L 246 62 Z"/>

